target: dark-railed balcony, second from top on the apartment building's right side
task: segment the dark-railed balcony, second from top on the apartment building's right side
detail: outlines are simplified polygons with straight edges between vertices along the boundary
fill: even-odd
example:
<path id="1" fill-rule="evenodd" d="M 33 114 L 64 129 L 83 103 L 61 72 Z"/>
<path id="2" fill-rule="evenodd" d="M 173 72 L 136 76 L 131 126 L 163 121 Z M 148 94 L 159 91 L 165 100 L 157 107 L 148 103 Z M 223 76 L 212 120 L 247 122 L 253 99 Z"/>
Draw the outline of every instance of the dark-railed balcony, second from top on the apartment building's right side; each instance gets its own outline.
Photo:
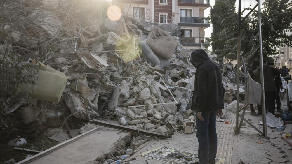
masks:
<path id="1" fill-rule="evenodd" d="M 208 19 L 204 17 L 180 17 L 179 26 L 210 27 Z"/>

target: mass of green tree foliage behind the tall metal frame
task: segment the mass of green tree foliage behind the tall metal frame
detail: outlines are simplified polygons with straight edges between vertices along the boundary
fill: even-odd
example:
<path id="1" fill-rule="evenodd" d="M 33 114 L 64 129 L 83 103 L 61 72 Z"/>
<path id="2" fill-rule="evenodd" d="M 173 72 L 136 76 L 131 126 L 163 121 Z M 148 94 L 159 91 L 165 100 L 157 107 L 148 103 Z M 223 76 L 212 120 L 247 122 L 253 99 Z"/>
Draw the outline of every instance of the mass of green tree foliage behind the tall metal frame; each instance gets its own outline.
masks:
<path id="1" fill-rule="evenodd" d="M 213 24 L 210 38 L 213 53 L 218 54 L 219 57 L 225 56 L 227 59 L 237 59 L 238 15 L 234 5 L 234 0 L 217 0 L 210 12 Z M 251 8 L 245 10 L 251 10 Z M 292 2 L 266 0 L 263 3 L 261 17 L 263 56 L 267 59 L 269 55 L 279 54 L 278 47 L 292 45 L 292 36 L 286 34 L 292 31 Z M 257 10 L 254 10 L 242 24 L 241 50 L 243 56 L 247 57 L 259 47 Z M 254 58 L 258 58 L 258 54 Z"/>

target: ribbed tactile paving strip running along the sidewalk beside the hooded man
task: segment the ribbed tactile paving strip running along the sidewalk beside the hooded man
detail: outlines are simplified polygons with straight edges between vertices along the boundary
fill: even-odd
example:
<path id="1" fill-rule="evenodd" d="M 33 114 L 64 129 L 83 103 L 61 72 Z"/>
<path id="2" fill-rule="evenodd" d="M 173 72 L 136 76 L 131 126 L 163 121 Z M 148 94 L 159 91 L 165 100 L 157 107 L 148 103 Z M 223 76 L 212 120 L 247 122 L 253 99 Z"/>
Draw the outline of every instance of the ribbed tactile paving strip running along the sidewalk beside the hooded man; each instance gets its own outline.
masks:
<path id="1" fill-rule="evenodd" d="M 233 145 L 233 126 L 235 124 L 236 115 L 233 112 L 227 111 L 228 117 L 225 121 L 231 122 L 231 124 L 225 124 L 225 122 L 217 122 L 217 158 L 224 158 L 223 164 L 230 164 L 232 160 L 232 145 Z"/>

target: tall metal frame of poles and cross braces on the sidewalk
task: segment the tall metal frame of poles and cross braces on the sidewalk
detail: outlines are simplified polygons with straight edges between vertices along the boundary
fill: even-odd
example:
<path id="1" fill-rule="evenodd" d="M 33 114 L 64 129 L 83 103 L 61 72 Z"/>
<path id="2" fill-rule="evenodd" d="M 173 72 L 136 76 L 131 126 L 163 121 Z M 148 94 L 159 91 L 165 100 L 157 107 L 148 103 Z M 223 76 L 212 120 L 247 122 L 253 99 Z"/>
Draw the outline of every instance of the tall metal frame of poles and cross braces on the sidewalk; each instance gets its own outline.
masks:
<path id="1" fill-rule="evenodd" d="M 242 26 L 242 22 L 246 19 L 246 17 L 248 17 L 248 15 L 246 15 L 246 17 L 244 17 L 243 20 L 241 20 L 241 0 L 239 0 L 238 2 L 238 39 L 237 39 L 237 109 L 236 109 L 236 134 L 239 134 L 239 130 L 242 124 L 242 121 L 246 121 L 249 125 L 251 125 L 253 128 L 255 128 L 258 132 L 260 132 L 264 137 L 267 137 L 267 125 L 266 125 L 266 106 L 265 106 L 265 86 L 264 86 L 264 76 L 263 76 L 263 51 L 262 51 L 262 29 L 261 29 L 261 13 L 260 13 L 260 0 L 257 0 L 258 4 L 248 13 L 248 15 L 250 15 L 252 13 L 252 11 L 258 6 L 258 26 L 259 26 L 259 42 L 260 42 L 260 46 L 258 47 L 258 49 L 260 50 L 260 79 L 261 79 L 261 84 L 262 84 L 262 116 L 263 116 L 263 133 L 257 129 L 255 126 L 253 126 L 251 123 L 249 123 L 246 119 L 244 119 L 244 114 L 245 114 L 245 107 L 248 104 L 244 104 L 244 107 L 241 108 L 239 110 L 239 77 L 240 77 L 240 73 L 243 73 L 239 70 L 239 68 L 241 66 L 245 65 L 244 63 L 250 59 L 255 52 L 258 50 L 256 49 L 256 51 L 254 51 L 246 60 L 244 60 L 242 54 L 241 54 L 241 43 L 240 43 L 240 33 L 241 33 L 241 26 Z M 244 27 L 244 26 L 243 26 Z M 246 29 L 247 30 L 247 29 Z M 241 61 L 241 62 L 240 62 Z M 243 74 L 247 74 L 246 69 L 244 69 L 244 73 Z M 247 78 L 245 76 L 245 80 L 247 81 Z M 245 91 L 245 93 L 247 93 L 247 90 Z M 246 103 L 246 100 L 245 100 Z M 242 115 L 239 115 L 239 112 L 241 112 L 241 110 L 243 110 Z M 258 109 L 260 110 L 260 109 Z M 239 117 L 241 118 L 241 122 L 239 124 Z"/>

